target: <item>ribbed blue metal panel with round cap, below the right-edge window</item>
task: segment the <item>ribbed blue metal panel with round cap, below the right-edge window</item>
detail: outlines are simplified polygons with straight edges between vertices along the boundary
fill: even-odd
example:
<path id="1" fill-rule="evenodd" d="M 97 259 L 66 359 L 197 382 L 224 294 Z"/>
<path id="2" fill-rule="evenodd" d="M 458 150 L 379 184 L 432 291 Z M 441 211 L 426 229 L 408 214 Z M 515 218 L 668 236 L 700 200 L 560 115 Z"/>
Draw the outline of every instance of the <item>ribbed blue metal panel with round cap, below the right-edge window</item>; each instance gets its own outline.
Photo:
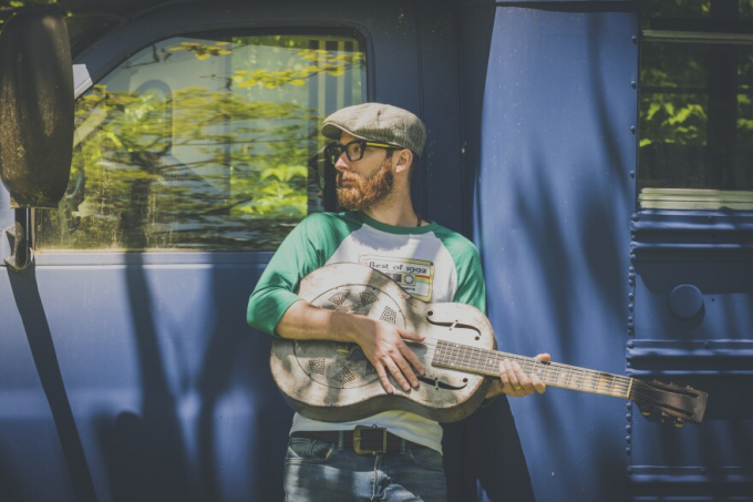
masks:
<path id="1" fill-rule="evenodd" d="M 633 422 L 633 500 L 753 500 L 753 454 L 743 447 L 753 441 L 752 224 L 746 213 L 632 216 L 628 371 L 710 396 L 699 428 Z"/>

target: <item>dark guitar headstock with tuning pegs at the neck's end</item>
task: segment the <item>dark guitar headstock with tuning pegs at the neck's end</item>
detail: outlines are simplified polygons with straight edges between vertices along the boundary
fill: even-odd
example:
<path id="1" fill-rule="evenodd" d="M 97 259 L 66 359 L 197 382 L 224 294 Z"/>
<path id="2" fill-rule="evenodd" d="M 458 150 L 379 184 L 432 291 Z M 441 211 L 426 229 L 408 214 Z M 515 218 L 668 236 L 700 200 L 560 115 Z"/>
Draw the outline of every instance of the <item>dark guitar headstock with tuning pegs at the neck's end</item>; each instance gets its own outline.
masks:
<path id="1" fill-rule="evenodd" d="M 701 423 L 708 397 L 708 393 L 692 387 L 637 379 L 629 396 L 644 416 L 658 412 L 662 421 L 672 417 L 677 427 L 682 427 L 684 422 Z"/>

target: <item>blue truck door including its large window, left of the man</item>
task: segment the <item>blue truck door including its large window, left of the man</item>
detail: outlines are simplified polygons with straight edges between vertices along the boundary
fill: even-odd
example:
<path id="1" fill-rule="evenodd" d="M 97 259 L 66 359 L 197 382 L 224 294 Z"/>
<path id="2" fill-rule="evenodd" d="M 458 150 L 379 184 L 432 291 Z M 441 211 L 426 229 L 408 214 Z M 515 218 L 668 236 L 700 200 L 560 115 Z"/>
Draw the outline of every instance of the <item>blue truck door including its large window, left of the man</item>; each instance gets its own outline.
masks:
<path id="1" fill-rule="evenodd" d="M 291 411 L 246 303 L 323 208 L 321 120 L 367 100 L 421 115 L 439 93 L 420 61 L 431 75 L 452 52 L 421 52 L 417 24 L 398 2 L 197 4 L 131 13 L 79 55 L 68 192 L 35 212 L 33 272 L 0 275 L 0 498 L 281 498 Z M 460 155 L 457 104 L 426 115 L 431 173 Z M 426 177 L 422 214 L 460 223 Z"/>

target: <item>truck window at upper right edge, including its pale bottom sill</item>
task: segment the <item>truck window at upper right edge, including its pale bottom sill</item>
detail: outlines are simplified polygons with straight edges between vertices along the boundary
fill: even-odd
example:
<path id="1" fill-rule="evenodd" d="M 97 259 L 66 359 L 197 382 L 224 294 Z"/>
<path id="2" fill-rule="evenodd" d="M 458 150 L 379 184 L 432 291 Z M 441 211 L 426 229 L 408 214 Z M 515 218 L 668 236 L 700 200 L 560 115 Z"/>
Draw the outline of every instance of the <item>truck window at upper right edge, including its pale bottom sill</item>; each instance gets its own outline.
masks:
<path id="1" fill-rule="evenodd" d="M 643 208 L 753 208 L 753 1 L 644 0 Z"/>

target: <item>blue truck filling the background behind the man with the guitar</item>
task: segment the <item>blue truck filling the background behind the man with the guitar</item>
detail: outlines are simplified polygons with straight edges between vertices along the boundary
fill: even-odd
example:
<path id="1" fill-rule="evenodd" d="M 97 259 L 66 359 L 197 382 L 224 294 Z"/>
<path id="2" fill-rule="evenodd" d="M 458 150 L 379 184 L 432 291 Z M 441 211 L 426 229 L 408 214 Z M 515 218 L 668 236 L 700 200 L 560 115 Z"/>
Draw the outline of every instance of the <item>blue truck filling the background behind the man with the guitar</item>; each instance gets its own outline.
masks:
<path id="1" fill-rule="evenodd" d="M 246 304 L 334 209 L 321 120 L 375 101 L 503 350 L 709 392 L 498 399 L 446 426 L 451 499 L 753 501 L 753 2 L 39 3 L 0 3 L 0 500 L 282 499 Z"/>

